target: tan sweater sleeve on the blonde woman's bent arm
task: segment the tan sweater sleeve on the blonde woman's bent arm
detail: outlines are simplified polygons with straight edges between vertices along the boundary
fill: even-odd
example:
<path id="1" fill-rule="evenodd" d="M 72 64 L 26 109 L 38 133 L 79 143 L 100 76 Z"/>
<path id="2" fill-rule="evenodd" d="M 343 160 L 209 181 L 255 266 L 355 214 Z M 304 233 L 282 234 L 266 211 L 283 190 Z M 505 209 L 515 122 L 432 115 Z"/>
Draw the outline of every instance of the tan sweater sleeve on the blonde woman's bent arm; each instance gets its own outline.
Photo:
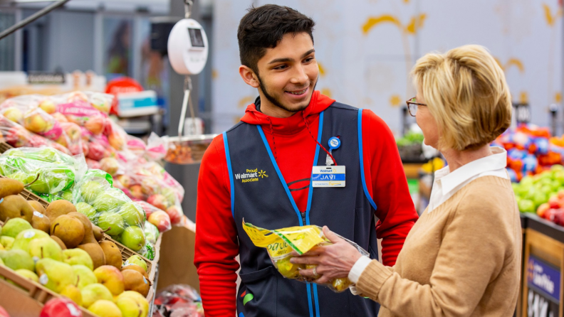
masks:
<path id="1" fill-rule="evenodd" d="M 453 206 L 429 284 L 403 279 L 372 261 L 357 291 L 397 316 L 469 316 L 513 254 L 513 221 L 503 203 L 484 188 Z"/>

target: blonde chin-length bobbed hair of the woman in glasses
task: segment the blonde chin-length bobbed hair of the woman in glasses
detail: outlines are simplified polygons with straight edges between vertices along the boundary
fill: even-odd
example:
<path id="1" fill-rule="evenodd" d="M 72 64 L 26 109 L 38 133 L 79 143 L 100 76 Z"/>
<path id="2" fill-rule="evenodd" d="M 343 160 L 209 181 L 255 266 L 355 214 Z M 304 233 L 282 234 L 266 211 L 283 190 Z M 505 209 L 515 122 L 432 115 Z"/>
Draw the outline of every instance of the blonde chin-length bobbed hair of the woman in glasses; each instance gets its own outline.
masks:
<path id="1" fill-rule="evenodd" d="M 424 55 L 412 76 L 439 126 L 439 149 L 477 149 L 511 124 L 505 75 L 483 46 Z"/>

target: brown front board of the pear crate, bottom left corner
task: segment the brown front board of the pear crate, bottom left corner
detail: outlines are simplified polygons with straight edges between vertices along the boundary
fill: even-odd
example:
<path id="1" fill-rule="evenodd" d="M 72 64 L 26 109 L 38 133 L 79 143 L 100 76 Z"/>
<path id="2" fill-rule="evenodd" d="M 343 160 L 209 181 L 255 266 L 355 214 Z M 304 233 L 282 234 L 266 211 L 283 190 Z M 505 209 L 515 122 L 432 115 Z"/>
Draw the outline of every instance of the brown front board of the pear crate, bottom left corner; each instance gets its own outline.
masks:
<path id="1" fill-rule="evenodd" d="M 4 307 L 10 316 L 37 317 L 43 305 L 50 299 L 61 295 L 47 289 L 30 279 L 16 274 L 9 267 L 0 265 L 0 306 Z M 8 281 L 16 284 L 9 284 Z M 83 307 L 80 307 L 83 317 L 96 317 Z"/>

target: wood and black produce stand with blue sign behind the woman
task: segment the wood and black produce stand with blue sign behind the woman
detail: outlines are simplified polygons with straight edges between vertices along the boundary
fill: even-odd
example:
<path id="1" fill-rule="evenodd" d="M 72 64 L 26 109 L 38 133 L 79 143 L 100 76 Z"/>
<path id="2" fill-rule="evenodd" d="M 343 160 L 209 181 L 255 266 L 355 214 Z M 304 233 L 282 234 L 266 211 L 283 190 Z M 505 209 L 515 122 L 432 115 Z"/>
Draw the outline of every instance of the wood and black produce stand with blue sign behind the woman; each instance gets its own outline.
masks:
<path id="1" fill-rule="evenodd" d="M 532 213 L 522 214 L 521 220 L 525 229 L 517 316 L 563 316 L 564 227 Z"/>

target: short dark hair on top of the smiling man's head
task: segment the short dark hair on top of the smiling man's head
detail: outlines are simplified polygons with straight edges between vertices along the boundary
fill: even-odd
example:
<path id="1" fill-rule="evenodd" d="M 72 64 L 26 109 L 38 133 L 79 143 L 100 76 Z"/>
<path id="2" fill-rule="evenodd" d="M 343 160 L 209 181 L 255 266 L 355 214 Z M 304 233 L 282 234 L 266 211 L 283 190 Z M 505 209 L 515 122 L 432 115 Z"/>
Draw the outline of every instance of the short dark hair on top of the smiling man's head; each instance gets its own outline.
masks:
<path id="1" fill-rule="evenodd" d="M 258 8 L 251 6 L 248 11 L 241 18 L 237 30 L 239 58 L 241 65 L 251 68 L 257 74 L 256 64 L 266 54 L 266 48 L 275 48 L 285 34 L 305 32 L 313 41 L 315 22 L 288 6 L 266 4 Z"/>

